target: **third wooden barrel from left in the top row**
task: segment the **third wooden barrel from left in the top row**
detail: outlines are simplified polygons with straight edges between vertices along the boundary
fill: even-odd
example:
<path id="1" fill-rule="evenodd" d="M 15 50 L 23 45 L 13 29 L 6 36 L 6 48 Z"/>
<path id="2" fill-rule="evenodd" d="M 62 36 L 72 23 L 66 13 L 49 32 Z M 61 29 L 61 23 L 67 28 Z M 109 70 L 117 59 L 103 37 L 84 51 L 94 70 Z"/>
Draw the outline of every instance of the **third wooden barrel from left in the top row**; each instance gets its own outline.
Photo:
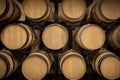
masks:
<path id="1" fill-rule="evenodd" d="M 59 5 L 61 21 L 77 22 L 85 17 L 85 0 L 63 0 Z"/>

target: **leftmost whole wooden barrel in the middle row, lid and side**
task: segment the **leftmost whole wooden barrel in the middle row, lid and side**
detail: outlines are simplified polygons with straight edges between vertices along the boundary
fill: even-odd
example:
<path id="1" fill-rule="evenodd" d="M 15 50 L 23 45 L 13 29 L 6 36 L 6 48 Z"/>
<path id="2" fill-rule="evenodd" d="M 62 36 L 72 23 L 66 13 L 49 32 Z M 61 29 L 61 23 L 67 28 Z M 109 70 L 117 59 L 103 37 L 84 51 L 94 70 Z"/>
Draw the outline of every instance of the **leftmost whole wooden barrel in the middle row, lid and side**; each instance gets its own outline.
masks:
<path id="1" fill-rule="evenodd" d="M 26 24 L 9 24 L 1 32 L 1 41 L 8 49 L 25 49 L 35 40 L 33 30 Z"/>

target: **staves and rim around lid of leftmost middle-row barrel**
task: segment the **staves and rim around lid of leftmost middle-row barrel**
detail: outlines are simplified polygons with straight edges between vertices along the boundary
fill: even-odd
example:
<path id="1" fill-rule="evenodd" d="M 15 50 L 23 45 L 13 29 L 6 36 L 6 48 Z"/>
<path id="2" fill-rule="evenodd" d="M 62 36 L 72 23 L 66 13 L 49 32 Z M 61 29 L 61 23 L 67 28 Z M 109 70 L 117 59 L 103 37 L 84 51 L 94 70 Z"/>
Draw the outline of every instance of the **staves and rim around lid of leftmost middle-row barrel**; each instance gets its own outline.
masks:
<path id="1" fill-rule="evenodd" d="M 27 35 L 27 37 L 26 37 L 26 41 L 25 41 L 25 43 L 21 46 L 21 47 L 19 47 L 19 48 L 10 48 L 10 47 L 8 47 L 8 45 L 5 45 L 5 43 L 4 43 L 4 41 L 3 41 L 3 38 L 2 38 L 2 34 L 4 33 L 4 30 L 6 29 L 6 28 L 8 28 L 8 27 L 10 27 L 10 26 L 13 26 L 13 25 L 17 25 L 17 26 L 19 26 L 19 27 L 21 27 L 21 28 L 23 28 L 24 30 L 25 30 L 25 32 L 26 32 L 26 35 Z M 30 40 L 30 36 L 31 36 L 31 40 Z M 18 50 L 18 49 L 25 49 L 25 48 L 28 48 L 28 47 L 30 47 L 33 43 L 34 43 L 34 41 L 35 41 L 35 33 L 34 33 L 34 31 L 32 31 L 32 29 L 28 26 L 28 25 L 26 25 L 26 24 L 16 24 L 16 23 L 14 23 L 14 24 L 9 24 L 9 25 L 7 25 L 4 29 L 3 29 L 3 31 L 1 32 L 1 41 L 2 41 L 2 43 L 4 44 L 4 46 L 6 47 L 6 48 L 8 48 L 8 49 L 13 49 L 13 50 Z M 29 43 L 29 44 L 28 44 Z"/>

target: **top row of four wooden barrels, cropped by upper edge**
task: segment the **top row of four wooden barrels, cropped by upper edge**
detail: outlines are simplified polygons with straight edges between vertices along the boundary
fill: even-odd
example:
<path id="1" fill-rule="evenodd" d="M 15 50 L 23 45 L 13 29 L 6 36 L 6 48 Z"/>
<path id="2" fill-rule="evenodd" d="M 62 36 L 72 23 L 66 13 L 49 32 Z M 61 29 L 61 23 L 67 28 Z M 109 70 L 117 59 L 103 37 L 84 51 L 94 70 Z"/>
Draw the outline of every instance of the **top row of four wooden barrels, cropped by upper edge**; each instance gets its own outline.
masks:
<path id="1" fill-rule="evenodd" d="M 22 7 L 15 0 L 0 2 L 0 21 L 14 22 L 21 14 L 33 22 L 54 21 L 56 9 L 49 0 L 23 0 Z M 93 0 L 87 7 L 85 0 L 62 0 L 58 4 L 58 17 L 60 21 L 68 22 L 81 22 L 83 19 L 92 19 L 98 23 L 116 22 L 120 18 L 119 3 L 120 0 Z"/>

